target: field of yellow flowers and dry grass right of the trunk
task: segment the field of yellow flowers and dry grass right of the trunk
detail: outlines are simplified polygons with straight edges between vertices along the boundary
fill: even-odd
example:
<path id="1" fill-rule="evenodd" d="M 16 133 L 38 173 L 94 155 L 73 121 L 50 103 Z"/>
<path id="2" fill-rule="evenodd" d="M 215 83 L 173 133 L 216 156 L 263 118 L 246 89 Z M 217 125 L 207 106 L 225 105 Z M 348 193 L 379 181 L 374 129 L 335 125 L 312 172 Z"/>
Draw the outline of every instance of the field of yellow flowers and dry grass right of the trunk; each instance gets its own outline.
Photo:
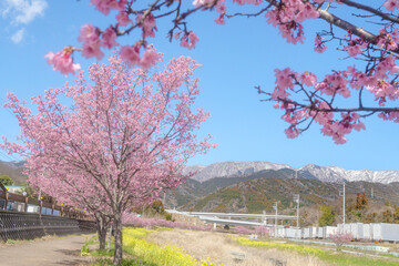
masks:
<path id="1" fill-rule="evenodd" d="M 398 258 L 374 258 L 285 241 L 253 241 L 247 236 L 176 228 L 124 228 L 123 250 L 124 266 L 399 265 Z M 88 252 L 88 255 L 100 255 L 92 265 L 112 263 L 112 252 Z"/>

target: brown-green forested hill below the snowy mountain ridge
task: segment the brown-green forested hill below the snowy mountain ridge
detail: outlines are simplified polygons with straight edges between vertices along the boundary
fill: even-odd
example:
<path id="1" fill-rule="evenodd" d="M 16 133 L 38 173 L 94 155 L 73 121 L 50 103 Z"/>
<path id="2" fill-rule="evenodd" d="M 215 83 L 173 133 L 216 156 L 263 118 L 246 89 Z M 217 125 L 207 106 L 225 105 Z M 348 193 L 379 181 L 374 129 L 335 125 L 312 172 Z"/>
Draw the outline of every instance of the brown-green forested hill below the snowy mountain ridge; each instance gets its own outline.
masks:
<path id="1" fill-rule="evenodd" d="M 167 194 L 166 205 L 184 211 L 272 213 L 273 204 L 279 202 L 279 211 L 294 213 L 294 194 L 300 194 L 301 207 L 318 209 L 321 205 L 341 206 L 341 183 L 321 182 L 313 176 L 298 175 L 291 170 L 267 170 L 246 177 L 217 177 L 200 183 L 194 180 Z M 348 202 L 357 193 L 365 193 L 369 202 L 382 205 L 399 204 L 399 183 L 369 182 L 346 183 Z M 340 202 L 340 203 L 339 203 Z"/>

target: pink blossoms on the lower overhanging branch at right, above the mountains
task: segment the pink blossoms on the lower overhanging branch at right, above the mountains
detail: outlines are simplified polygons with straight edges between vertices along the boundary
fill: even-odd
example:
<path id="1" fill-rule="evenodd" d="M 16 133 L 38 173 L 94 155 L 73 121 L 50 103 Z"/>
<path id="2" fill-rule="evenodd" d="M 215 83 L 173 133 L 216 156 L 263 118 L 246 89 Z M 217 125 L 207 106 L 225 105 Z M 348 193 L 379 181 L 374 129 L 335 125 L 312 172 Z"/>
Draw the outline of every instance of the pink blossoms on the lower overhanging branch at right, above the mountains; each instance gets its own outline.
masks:
<path id="1" fill-rule="evenodd" d="M 346 142 L 345 135 L 351 133 L 352 130 L 365 130 L 365 124 L 360 122 L 360 115 L 356 112 L 341 113 L 341 117 L 336 120 L 331 111 L 331 106 L 325 102 L 314 99 L 313 106 L 297 106 L 293 100 L 288 99 L 290 95 L 287 90 L 293 91 L 295 85 L 304 85 L 315 88 L 320 94 L 336 95 L 340 94 L 344 98 L 350 95 L 349 85 L 355 84 L 357 88 L 362 88 L 366 84 L 368 89 L 375 93 L 379 101 L 389 98 L 396 100 L 399 98 L 399 92 L 396 88 L 379 82 L 377 85 L 370 83 L 367 75 L 361 75 L 355 68 L 348 71 L 340 71 L 326 75 L 321 82 L 317 82 L 317 76 L 309 72 L 296 73 L 290 69 L 275 70 L 276 72 L 276 88 L 270 98 L 276 100 L 276 109 L 285 110 L 282 119 L 289 123 L 288 129 L 285 130 L 287 137 L 297 137 L 301 130 L 297 126 L 304 121 L 311 117 L 316 123 L 320 124 L 321 133 L 331 136 L 335 143 L 342 144 Z M 358 83 L 361 84 L 358 84 Z M 377 100 L 377 99 L 376 99 Z"/>

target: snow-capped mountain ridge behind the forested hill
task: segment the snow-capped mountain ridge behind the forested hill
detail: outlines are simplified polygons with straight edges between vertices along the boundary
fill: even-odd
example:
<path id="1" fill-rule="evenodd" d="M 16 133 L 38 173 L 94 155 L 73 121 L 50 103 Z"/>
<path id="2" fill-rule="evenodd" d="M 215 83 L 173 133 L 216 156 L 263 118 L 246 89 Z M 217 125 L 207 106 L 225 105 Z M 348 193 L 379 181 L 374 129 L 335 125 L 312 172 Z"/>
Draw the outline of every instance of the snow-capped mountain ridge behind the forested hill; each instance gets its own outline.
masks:
<path id="1" fill-rule="evenodd" d="M 274 164 L 269 162 L 223 162 L 207 166 L 192 165 L 184 170 L 184 174 L 195 173 L 192 177 L 198 182 L 205 182 L 215 177 L 244 177 L 264 170 L 293 170 L 304 177 L 317 178 L 321 182 L 337 183 L 365 181 L 370 183 L 389 184 L 399 182 L 399 171 L 371 171 L 371 170 L 345 170 L 338 166 L 318 166 L 308 164 L 300 168 L 294 168 L 287 164 Z"/>

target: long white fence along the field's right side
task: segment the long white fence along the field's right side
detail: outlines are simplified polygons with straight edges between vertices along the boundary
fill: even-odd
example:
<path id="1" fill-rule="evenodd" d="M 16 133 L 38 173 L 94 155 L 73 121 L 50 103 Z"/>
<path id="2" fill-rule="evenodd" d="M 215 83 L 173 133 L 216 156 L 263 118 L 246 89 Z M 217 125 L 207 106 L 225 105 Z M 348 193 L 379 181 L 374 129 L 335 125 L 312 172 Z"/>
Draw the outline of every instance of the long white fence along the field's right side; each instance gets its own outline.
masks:
<path id="1" fill-rule="evenodd" d="M 326 239 L 336 233 L 349 233 L 355 239 L 399 242 L 399 224 L 350 223 L 338 226 L 272 229 L 270 235 L 283 238 L 320 238 Z"/>

